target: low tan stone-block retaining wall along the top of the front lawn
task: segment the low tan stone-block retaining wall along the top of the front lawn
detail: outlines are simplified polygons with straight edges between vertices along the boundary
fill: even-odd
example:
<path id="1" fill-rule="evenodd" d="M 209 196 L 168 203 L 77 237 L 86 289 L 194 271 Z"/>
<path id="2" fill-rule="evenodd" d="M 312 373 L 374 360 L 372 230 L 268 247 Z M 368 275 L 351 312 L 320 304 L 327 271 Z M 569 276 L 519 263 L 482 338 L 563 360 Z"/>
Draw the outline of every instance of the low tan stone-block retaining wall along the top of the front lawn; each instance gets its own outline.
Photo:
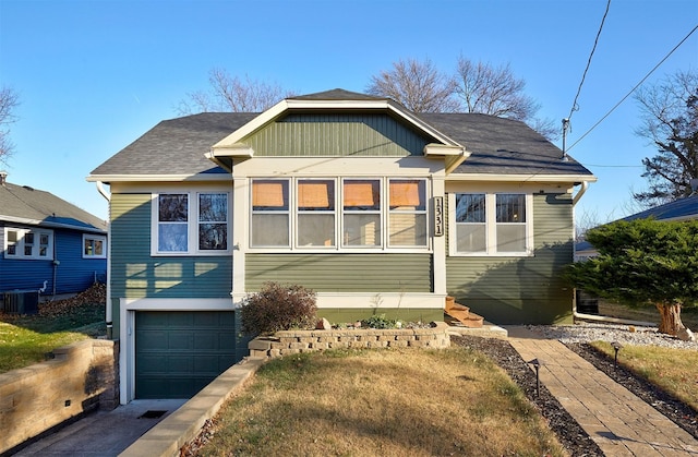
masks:
<path id="1" fill-rule="evenodd" d="M 284 330 L 250 341 L 251 357 L 281 357 L 325 349 L 447 348 L 448 325 L 408 329 Z"/>

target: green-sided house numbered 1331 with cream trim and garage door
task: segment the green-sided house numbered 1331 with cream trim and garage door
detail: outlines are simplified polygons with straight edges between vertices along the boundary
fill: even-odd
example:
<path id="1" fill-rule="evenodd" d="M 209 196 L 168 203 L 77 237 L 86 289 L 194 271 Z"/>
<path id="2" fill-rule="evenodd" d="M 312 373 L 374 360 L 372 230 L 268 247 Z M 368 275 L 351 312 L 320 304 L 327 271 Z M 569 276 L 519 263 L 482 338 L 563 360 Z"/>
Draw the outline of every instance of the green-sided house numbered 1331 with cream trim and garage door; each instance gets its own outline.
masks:
<path id="1" fill-rule="evenodd" d="M 163 121 L 88 177 L 110 185 L 107 321 L 121 401 L 185 398 L 240 360 L 267 281 L 333 323 L 569 322 L 574 207 L 593 175 L 525 123 L 342 89 Z"/>

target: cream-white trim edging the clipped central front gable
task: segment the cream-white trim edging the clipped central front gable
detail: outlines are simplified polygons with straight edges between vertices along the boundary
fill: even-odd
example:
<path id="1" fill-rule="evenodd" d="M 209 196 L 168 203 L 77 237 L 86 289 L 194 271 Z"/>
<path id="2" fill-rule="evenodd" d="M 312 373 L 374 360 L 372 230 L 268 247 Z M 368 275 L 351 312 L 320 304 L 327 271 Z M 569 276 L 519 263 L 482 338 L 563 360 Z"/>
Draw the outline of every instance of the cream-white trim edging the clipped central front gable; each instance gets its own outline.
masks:
<path id="1" fill-rule="evenodd" d="M 230 155 L 230 149 L 237 149 L 241 147 L 239 145 L 240 141 L 267 123 L 272 122 L 274 119 L 278 118 L 285 111 L 290 109 L 384 109 L 390 111 L 398 117 L 405 119 L 408 123 L 417 127 L 419 130 L 428 133 L 429 135 L 435 137 L 440 142 L 444 143 L 448 146 L 460 146 L 458 142 L 452 140 L 450 137 L 444 135 L 433 127 L 423 122 L 414 115 L 399 108 L 395 104 L 389 100 L 299 100 L 299 99 L 285 99 L 274 105 L 272 108 L 267 109 L 256 118 L 252 119 L 246 124 L 242 125 L 240 129 L 232 132 L 230 135 L 226 136 L 218 143 L 212 146 L 213 156 L 222 156 Z M 244 147 L 244 146 L 242 146 Z"/>

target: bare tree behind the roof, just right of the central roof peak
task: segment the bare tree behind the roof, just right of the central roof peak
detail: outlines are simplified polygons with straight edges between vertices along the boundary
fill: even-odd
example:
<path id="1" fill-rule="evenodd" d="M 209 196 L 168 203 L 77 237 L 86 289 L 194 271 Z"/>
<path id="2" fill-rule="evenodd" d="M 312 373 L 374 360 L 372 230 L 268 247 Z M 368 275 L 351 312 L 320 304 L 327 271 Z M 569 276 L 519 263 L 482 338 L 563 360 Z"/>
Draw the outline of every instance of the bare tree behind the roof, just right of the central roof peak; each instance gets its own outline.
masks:
<path id="1" fill-rule="evenodd" d="M 430 59 L 398 60 L 393 69 L 371 76 L 366 92 L 389 97 L 412 112 L 454 112 L 458 101 L 454 99 L 455 81 L 440 72 Z"/>

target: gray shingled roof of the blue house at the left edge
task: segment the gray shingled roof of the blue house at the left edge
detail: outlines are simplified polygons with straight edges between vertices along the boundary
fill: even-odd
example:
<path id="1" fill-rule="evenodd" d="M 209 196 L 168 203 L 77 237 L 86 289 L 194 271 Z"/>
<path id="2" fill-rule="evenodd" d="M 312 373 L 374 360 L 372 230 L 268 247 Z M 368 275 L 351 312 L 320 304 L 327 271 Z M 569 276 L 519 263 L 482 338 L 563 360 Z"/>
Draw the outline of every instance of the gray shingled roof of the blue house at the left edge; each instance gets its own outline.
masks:
<path id="1" fill-rule="evenodd" d="M 106 231 L 107 223 L 58 196 L 24 185 L 0 184 L 0 220 L 38 220 L 39 226 Z"/>

